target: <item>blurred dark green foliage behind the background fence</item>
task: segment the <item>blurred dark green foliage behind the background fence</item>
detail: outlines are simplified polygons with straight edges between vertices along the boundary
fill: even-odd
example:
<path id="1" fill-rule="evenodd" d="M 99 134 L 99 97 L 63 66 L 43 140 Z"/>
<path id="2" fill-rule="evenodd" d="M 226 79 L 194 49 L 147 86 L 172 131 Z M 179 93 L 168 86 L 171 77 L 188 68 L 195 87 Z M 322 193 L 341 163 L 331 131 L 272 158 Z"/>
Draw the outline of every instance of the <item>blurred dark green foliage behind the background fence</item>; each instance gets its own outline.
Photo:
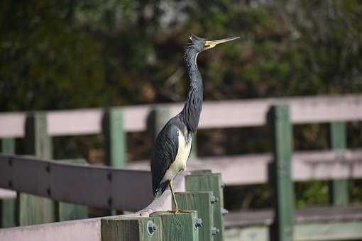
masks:
<path id="1" fill-rule="evenodd" d="M 183 101 L 182 46 L 191 33 L 241 36 L 199 55 L 205 100 L 361 93 L 361 17 L 358 0 L 3 0 L 0 110 Z M 246 129 L 238 135 L 202 131 L 199 140 L 209 145 L 199 145 L 199 153 L 270 150 L 265 130 Z M 351 146 L 361 147 L 361 123 L 349 130 L 357 133 L 349 136 Z M 323 125 L 297 127 L 296 149 L 327 148 L 326 135 Z M 60 138 L 55 144 L 72 149 L 85 139 Z M 134 135 L 130 142 L 131 149 L 146 145 L 146 155 L 143 138 Z M 358 184 L 351 186 L 353 200 L 361 200 Z M 326 185 L 297 188 L 297 205 L 327 202 Z M 268 205 L 265 186 L 251 189 L 236 190 L 247 197 L 239 207 Z"/>

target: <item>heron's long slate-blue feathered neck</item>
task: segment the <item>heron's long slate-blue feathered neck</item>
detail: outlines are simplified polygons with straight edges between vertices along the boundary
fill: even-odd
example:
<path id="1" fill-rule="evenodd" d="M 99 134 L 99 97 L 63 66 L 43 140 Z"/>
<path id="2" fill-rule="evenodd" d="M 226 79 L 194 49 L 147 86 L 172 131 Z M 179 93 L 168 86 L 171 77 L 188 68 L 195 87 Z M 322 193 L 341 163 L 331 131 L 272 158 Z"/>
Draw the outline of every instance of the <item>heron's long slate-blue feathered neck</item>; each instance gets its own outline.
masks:
<path id="1" fill-rule="evenodd" d="M 185 48 L 185 67 L 188 77 L 190 79 L 189 93 L 185 102 L 185 106 L 182 109 L 180 116 L 187 125 L 187 129 L 192 133 L 195 133 L 197 126 L 199 125 L 200 113 L 202 110 L 202 77 L 197 69 L 197 51 L 192 47 Z"/>

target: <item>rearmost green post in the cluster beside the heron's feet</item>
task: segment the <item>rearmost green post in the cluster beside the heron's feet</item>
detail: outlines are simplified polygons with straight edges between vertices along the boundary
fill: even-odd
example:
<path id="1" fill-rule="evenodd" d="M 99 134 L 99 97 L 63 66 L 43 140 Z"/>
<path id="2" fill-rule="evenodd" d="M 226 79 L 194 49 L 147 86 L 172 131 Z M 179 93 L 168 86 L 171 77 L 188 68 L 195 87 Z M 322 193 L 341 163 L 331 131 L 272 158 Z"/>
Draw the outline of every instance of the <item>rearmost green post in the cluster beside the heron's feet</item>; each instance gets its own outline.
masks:
<path id="1" fill-rule="evenodd" d="M 212 191 L 215 196 L 213 218 L 214 227 L 219 232 L 214 235 L 214 240 L 224 240 L 224 190 L 222 187 L 221 174 L 212 174 L 209 170 L 198 170 L 185 176 L 186 191 Z"/>

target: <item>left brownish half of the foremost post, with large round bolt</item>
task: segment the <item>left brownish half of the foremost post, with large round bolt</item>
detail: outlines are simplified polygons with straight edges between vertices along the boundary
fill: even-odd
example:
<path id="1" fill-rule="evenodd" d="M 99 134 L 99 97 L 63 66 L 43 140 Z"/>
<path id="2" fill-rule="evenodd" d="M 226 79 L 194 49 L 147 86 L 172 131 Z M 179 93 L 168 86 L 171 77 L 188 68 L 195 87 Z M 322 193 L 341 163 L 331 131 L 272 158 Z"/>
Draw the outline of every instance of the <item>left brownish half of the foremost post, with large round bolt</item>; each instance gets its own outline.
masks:
<path id="1" fill-rule="evenodd" d="M 160 217 L 134 218 L 121 215 L 103 218 L 102 241 L 159 241 L 163 240 Z"/>

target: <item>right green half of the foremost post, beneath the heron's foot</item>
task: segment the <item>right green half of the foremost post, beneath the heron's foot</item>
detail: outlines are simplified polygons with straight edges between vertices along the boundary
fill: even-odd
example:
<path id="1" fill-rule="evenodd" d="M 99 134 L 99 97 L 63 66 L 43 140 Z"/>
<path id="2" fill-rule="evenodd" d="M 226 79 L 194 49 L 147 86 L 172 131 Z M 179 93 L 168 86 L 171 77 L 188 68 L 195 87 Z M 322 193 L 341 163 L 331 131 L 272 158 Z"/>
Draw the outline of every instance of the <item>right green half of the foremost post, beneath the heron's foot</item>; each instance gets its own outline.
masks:
<path id="1" fill-rule="evenodd" d="M 161 225 L 161 233 L 163 241 L 198 241 L 199 228 L 194 225 L 194 219 L 197 218 L 197 212 L 190 211 L 188 213 L 169 213 L 156 212 L 152 217 L 159 217 Z"/>

